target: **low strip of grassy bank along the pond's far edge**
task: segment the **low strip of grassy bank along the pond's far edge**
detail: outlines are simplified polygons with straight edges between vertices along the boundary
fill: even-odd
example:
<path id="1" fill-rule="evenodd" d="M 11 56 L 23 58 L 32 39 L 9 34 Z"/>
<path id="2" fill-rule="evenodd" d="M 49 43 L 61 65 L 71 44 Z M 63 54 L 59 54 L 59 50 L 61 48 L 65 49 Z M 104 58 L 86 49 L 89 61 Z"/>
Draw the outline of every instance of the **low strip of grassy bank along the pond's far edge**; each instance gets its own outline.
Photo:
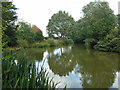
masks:
<path id="1" fill-rule="evenodd" d="M 68 45 L 68 44 L 73 44 L 73 40 L 72 39 L 45 39 L 42 41 L 37 41 L 31 44 L 28 44 L 27 41 L 22 40 L 18 42 L 17 48 L 13 48 L 13 49 L 17 49 L 19 50 L 20 48 L 44 48 L 44 47 L 54 47 L 54 46 L 61 46 L 61 45 Z"/>

